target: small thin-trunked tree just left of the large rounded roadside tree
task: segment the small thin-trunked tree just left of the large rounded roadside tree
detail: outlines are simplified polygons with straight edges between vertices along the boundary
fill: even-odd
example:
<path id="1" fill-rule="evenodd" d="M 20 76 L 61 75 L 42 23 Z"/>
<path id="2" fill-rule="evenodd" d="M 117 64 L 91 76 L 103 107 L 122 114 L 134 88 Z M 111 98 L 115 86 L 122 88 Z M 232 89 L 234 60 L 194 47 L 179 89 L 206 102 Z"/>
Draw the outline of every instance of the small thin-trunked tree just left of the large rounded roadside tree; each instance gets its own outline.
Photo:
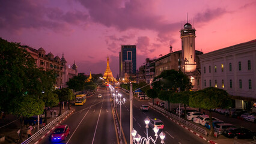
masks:
<path id="1" fill-rule="evenodd" d="M 190 95 L 193 95 L 194 92 L 193 91 L 183 91 L 183 92 L 174 92 L 171 94 L 171 97 L 169 97 L 169 101 L 171 103 L 182 103 L 184 105 L 184 116 L 186 119 L 186 113 L 187 113 L 187 109 L 186 106 L 189 104 L 189 97 Z"/>

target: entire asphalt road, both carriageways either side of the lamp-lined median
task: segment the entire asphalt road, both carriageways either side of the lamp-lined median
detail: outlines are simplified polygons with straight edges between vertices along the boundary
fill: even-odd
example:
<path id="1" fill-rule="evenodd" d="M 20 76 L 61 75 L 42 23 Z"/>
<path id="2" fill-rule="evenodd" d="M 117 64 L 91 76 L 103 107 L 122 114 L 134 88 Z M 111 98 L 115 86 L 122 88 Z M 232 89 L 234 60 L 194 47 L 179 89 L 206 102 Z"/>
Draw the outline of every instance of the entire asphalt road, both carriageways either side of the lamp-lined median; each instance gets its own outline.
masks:
<path id="1" fill-rule="evenodd" d="M 126 103 L 122 105 L 122 127 L 123 143 L 129 143 L 130 137 L 130 102 L 129 94 L 118 91 L 126 98 Z M 102 94 L 102 98 L 97 98 L 97 94 Z M 146 128 L 144 119 L 161 119 L 165 125 L 163 132 L 166 134 L 165 143 L 207 143 L 203 139 L 190 133 L 183 127 L 175 124 L 160 113 L 150 109 L 148 112 L 142 112 L 139 109 L 141 104 L 148 104 L 151 100 L 133 99 L 133 127 L 142 136 L 146 137 Z M 111 98 L 106 90 L 97 92 L 92 97 L 87 98 L 84 106 L 76 106 L 75 112 L 69 116 L 62 124 L 70 126 L 70 135 L 66 141 L 61 143 L 118 143 L 118 127 L 114 121 L 113 109 L 111 107 Z M 118 119 L 120 119 L 120 106 L 117 107 Z M 160 132 L 159 132 L 160 133 Z M 158 133 L 158 134 L 159 134 Z M 154 131 L 148 128 L 148 136 L 154 137 Z M 49 136 L 48 136 L 49 137 Z M 40 143 L 50 143 L 49 139 L 43 139 Z M 160 143 L 160 137 L 157 139 Z"/>

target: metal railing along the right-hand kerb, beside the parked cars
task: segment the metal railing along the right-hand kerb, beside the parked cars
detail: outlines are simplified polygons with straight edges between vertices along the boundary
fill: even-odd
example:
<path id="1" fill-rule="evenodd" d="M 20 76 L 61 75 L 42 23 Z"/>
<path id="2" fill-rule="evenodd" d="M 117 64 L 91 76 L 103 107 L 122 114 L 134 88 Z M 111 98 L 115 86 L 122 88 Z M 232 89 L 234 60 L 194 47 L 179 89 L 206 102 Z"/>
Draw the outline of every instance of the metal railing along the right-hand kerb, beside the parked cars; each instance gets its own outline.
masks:
<path id="1" fill-rule="evenodd" d="M 160 112 L 165 113 L 166 115 L 168 115 L 169 117 L 181 122 L 182 124 L 186 125 L 187 127 L 193 128 L 194 130 L 197 130 L 198 132 L 204 134 L 207 136 L 207 131 L 204 130 L 204 128 L 200 128 L 197 125 L 191 124 L 190 122 L 187 122 L 186 120 L 184 120 L 183 118 L 180 118 L 179 116 L 176 116 L 168 111 L 166 111 L 165 109 L 162 109 L 158 106 L 154 106 L 152 103 L 148 103 L 148 105 L 150 105 L 151 107 L 154 107 L 154 109 L 159 110 Z M 251 143 L 250 143 L 251 144 Z"/>

